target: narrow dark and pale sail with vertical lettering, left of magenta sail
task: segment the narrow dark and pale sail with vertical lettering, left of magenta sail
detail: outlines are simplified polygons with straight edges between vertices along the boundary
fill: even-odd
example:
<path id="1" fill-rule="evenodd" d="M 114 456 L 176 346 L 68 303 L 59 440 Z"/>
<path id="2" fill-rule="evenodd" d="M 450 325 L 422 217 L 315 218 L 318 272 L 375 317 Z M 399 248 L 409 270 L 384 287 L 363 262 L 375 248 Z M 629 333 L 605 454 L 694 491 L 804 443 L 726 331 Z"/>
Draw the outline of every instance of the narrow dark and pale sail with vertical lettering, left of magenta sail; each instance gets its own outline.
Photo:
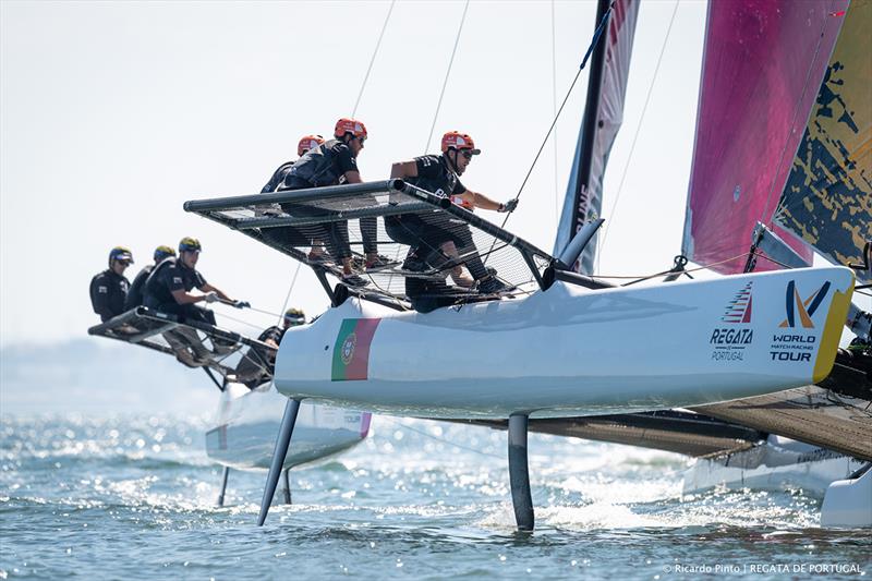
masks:
<path id="1" fill-rule="evenodd" d="M 600 1 L 597 25 L 609 3 L 608 0 Z M 608 34 L 600 38 L 594 50 L 584 119 L 579 131 L 572 172 L 554 244 L 556 256 L 562 253 L 585 222 L 598 218 L 602 213 L 603 175 L 615 136 L 623 121 L 623 97 L 627 93 L 638 13 L 638 0 L 615 1 L 608 22 Z M 592 274 L 595 255 L 596 238 L 584 249 L 574 269 Z"/>

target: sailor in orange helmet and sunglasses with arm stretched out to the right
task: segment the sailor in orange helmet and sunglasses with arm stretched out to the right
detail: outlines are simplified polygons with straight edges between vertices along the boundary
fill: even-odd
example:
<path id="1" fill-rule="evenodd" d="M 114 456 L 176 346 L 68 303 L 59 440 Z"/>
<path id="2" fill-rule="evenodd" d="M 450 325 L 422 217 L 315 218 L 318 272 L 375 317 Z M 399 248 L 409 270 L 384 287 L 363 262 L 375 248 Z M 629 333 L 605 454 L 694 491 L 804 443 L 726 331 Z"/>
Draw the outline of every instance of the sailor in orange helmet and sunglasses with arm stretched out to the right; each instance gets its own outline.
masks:
<path id="1" fill-rule="evenodd" d="M 470 208 L 492 209 L 499 213 L 513 211 L 518 199 L 512 198 L 506 203 L 496 202 L 484 194 L 468 190 L 460 181 L 460 175 L 467 170 L 473 156 L 480 155 L 481 149 L 475 147 L 475 142 L 465 133 L 449 131 L 443 135 L 441 155 L 425 155 L 410 161 L 393 164 L 390 171 L 391 178 L 401 178 L 409 183 L 417 185 L 437 195 L 450 196 L 456 203 L 465 204 Z M 441 255 L 453 258 L 469 255 L 464 261 L 470 274 L 481 294 L 491 294 L 505 290 L 506 286 L 488 271 L 472 240 L 469 226 L 451 219 L 447 213 L 403 214 L 385 218 L 385 228 L 388 235 L 402 244 L 410 246 L 410 253 L 404 267 L 409 269 L 424 269 L 432 264 L 433 256 Z M 470 281 L 461 277 L 462 269 L 455 267 L 451 275 L 460 286 L 471 286 Z M 407 294 L 424 282 L 414 278 L 407 278 Z M 412 287 L 410 289 L 410 287 Z M 427 289 L 427 293 L 434 289 Z M 412 295 L 410 294 L 410 298 Z"/>

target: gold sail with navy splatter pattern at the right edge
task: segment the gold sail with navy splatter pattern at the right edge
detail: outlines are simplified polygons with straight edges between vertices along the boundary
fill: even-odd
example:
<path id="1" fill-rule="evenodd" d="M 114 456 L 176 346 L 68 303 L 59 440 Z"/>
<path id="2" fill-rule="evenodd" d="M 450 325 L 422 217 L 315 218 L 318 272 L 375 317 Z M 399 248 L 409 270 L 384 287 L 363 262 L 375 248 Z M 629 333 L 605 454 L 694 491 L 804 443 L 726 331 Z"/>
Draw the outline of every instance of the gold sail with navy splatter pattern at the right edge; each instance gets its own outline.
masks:
<path id="1" fill-rule="evenodd" d="M 851 2 L 775 220 L 836 264 L 872 240 L 872 1 Z M 869 270 L 857 276 L 869 281 Z"/>

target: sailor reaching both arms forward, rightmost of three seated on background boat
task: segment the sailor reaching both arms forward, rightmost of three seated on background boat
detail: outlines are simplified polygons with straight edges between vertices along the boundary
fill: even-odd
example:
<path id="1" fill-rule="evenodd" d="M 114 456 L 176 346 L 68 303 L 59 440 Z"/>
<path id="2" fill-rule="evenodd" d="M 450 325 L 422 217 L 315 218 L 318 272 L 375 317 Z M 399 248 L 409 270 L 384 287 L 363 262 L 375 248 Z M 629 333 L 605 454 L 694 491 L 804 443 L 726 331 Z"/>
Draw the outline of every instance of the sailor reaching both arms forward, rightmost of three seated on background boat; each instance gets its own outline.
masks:
<path id="1" fill-rule="evenodd" d="M 219 299 L 239 304 L 223 291 L 206 282 L 196 269 L 203 247 L 195 238 L 185 237 L 179 242 L 179 257 L 165 258 L 145 282 L 145 306 L 161 313 L 178 315 L 182 320 L 197 320 L 215 325 L 215 313 L 196 305 L 214 303 Z M 206 294 L 192 294 L 192 289 Z"/>

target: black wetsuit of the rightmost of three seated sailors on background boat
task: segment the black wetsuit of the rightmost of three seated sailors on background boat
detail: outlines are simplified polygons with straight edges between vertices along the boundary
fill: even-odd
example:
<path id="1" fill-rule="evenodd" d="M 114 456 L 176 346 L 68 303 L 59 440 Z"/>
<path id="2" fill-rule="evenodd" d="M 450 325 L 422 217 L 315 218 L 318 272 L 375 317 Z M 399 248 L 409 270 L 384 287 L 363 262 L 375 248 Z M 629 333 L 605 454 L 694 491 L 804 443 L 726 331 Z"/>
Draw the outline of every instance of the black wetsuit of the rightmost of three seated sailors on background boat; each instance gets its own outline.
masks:
<path id="1" fill-rule="evenodd" d="M 184 320 L 198 320 L 215 325 L 215 313 L 193 303 L 179 304 L 172 291 L 203 289 L 206 279 L 195 268 L 187 268 L 179 258 L 166 258 L 145 281 L 145 306 L 161 313 L 179 316 Z"/>

